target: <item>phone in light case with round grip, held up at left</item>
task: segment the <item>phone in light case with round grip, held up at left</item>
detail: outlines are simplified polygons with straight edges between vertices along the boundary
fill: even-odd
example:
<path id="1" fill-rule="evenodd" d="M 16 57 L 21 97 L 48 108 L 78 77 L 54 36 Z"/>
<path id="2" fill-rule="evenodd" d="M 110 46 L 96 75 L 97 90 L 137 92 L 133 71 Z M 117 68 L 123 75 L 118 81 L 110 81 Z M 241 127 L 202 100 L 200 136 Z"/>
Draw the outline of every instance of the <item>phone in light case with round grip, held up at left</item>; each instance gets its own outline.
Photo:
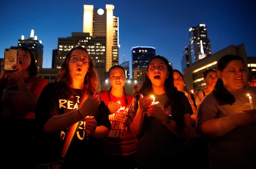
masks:
<path id="1" fill-rule="evenodd" d="M 4 50 L 4 70 L 15 71 L 12 66 L 17 64 L 17 50 L 5 49 Z"/>

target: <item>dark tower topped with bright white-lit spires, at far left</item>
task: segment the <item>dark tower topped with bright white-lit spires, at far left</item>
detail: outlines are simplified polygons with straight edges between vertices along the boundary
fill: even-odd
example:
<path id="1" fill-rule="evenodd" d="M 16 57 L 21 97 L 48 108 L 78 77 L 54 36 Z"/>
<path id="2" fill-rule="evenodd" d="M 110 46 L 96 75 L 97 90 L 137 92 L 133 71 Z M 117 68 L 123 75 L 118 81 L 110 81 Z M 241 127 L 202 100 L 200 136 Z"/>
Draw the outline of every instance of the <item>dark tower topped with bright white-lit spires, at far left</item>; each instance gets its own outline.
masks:
<path id="1" fill-rule="evenodd" d="M 21 39 L 18 40 L 18 47 L 23 46 L 29 48 L 35 56 L 35 62 L 37 67 L 40 69 L 43 65 L 43 45 L 41 40 L 37 40 L 37 36 L 34 35 L 34 30 L 31 30 L 30 37 L 26 38 L 24 35 L 21 36 Z M 17 47 L 12 46 L 11 48 L 15 49 Z"/>

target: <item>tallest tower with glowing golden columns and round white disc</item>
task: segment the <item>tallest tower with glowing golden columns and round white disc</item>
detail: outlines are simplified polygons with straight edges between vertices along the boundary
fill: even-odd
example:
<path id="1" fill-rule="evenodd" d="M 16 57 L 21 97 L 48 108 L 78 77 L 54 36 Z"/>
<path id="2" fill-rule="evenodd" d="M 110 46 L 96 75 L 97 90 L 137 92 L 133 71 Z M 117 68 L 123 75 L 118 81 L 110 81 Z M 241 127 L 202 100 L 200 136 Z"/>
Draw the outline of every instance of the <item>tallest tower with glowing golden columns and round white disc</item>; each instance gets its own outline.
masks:
<path id="1" fill-rule="evenodd" d="M 84 5 L 83 32 L 93 38 L 105 37 L 105 72 L 113 65 L 118 65 L 118 17 L 113 16 L 114 5 L 106 5 L 105 9 Z"/>

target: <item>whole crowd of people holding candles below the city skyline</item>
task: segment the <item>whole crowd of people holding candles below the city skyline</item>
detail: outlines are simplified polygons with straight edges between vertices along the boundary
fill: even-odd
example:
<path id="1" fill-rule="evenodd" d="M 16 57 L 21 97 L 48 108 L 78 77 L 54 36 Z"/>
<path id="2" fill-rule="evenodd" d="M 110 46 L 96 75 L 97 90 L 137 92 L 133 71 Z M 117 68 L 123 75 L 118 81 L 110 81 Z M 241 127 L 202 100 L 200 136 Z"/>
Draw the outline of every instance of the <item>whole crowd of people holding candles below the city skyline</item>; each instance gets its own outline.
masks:
<path id="1" fill-rule="evenodd" d="M 13 71 L 0 79 L 4 166 L 255 168 L 256 72 L 247 79 L 240 56 L 225 55 L 217 70 L 204 71 L 206 85 L 196 94 L 165 57 L 154 56 L 129 95 L 119 65 L 101 91 L 83 47 L 67 53 L 49 84 L 35 77 L 33 53 L 17 51 Z"/>

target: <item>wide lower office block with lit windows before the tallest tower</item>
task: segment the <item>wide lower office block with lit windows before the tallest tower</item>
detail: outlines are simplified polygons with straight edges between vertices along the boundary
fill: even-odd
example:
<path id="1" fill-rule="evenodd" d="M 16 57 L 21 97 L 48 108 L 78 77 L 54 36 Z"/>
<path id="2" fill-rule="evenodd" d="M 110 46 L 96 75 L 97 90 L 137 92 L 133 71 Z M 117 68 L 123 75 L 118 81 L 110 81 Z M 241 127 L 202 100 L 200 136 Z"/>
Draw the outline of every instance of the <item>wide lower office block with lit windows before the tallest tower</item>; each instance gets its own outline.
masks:
<path id="1" fill-rule="evenodd" d="M 93 60 L 95 68 L 103 80 L 105 77 L 105 60 L 106 60 L 106 37 L 97 36 L 92 37 L 89 33 L 72 32 L 71 37 L 58 38 L 57 54 L 53 50 L 55 56 L 53 62 L 53 68 L 61 68 L 62 63 L 65 60 L 65 56 L 72 48 L 76 46 L 82 46 L 89 52 L 90 57 Z M 56 50 L 56 49 L 55 49 Z"/>

